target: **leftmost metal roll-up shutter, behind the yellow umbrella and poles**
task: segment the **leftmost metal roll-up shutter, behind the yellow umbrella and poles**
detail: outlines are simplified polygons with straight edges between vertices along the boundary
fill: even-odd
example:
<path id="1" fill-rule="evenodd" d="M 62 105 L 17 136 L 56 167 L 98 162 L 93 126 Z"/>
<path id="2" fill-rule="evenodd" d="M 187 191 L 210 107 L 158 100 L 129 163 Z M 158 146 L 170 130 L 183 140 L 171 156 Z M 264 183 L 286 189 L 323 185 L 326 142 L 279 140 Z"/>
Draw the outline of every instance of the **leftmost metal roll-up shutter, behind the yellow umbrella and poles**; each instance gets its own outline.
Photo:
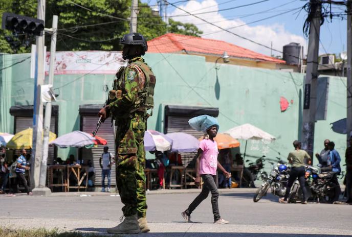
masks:
<path id="1" fill-rule="evenodd" d="M 15 128 L 16 128 L 15 133 L 23 131 L 28 128 L 32 128 L 32 127 L 33 127 L 33 117 L 15 116 Z M 51 117 L 50 131 L 55 133 L 55 117 Z M 54 163 L 54 149 L 55 149 L 55 147 L 49 147 L 48 164 Z M 16 151 L 16 154 L 17 153 L 19 154 L 19 151 Z"/>

